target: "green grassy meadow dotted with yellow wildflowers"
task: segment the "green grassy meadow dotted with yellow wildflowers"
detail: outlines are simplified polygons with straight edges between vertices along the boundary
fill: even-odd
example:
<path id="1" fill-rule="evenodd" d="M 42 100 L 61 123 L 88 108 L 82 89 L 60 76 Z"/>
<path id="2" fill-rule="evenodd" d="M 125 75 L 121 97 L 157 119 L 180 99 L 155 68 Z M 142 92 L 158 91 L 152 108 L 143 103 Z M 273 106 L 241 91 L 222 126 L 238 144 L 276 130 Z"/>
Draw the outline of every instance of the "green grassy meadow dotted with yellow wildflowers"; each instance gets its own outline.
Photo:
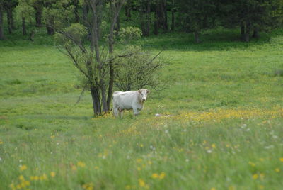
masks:
<path id="1" fill-rule="evenodd" d="M 74 106 L 79 72 L 51 38 L 0 41 L 0 189 L 282 189 L 283 31 L 237 33 L 134 42 L 163 50 L 167 85 L 123 119 L 92 118 L 88 92 Z"/>

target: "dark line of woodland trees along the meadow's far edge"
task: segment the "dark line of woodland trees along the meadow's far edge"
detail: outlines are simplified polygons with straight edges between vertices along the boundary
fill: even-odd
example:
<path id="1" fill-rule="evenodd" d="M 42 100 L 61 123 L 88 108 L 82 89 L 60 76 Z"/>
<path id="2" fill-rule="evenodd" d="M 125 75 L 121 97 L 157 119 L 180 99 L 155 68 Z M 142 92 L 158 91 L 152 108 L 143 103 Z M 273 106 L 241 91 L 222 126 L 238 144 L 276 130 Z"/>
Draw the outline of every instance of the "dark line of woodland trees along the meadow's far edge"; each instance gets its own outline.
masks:
<path id="1" fill-rule="evenodd" d="M 115 1 L 115 4 L 119 2 Z M 108 1 L 105 0 L 105 3 Z M 4 26 L 8 34 L 16 29 L 15 15 L 21 18 L 23 35 L 33 36 L 34 31 L 28 33 L 27 27 L 34 26 L 45 27 L 47 34 L 54 35 L 58 16 L 65 18 L 69 24 L 86 25 L 83 22 L 89 17 L 90 9 L 83 0 L 0 0 L 0 39 L 4 39 Z M 122 16 L 122 13 L 125 15 Z M 127 21 L 132 19 L 133 14 L 139 17 L 135 25 L 139 26 L 143 36 L 177 30 L 194 33 L 195 42 L 199 43 L 202 31 L 221 26 L 241 29 L 242 40 L 248 42 L 250 37 L 259 38 L 261 31 L 282 26 L 283 1 L 127 0 L 115 22 L 116 33 L 120 30 L 120 17 Z M 103 24 L 103 19 L 98 24 Z"/>

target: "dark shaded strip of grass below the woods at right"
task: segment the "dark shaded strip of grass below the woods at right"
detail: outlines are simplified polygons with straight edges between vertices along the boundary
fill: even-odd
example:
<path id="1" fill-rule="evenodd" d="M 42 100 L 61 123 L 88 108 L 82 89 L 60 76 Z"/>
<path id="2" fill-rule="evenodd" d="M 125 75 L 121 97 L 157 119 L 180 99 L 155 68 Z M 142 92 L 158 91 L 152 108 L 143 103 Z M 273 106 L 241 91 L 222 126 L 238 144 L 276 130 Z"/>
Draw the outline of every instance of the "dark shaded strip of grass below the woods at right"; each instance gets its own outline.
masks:
<path id="1" fill-rule="evenodd" d="M 238 30 L 215 29 L 202 33 L 200 35 L 201 43 L 195 43 L 192 33 L 165 33 L 143 38 L 134 44 L 154 50 L 246 50 L 249 47 L 257 48 L 270 43 L 270 39 L 277 36 L 283 36 L 283 29 L 274 30 L 272 33 L 260 33 L 259 39 L 250 38 L 250 42 L 246 43 L 241 40 Z"/>

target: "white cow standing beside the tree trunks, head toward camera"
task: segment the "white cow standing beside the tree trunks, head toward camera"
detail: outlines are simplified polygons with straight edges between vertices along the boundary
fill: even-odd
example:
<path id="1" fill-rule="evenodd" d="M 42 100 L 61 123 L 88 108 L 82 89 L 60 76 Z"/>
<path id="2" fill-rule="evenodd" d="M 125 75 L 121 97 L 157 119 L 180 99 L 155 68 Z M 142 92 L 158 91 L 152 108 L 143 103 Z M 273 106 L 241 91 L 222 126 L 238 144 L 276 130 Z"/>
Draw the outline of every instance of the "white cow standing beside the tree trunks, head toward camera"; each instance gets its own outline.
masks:
<path id="1" fill-rule="evenodd" d="M 115 117 L 123 117 L 123 111 L 132 109 L 134 116 L 139 115 L 139 112 L 144 107 L 144 101 L 150 91 L 140 89 L 138 91 L 115 91 L 113 93 L 113 114 Z"/>

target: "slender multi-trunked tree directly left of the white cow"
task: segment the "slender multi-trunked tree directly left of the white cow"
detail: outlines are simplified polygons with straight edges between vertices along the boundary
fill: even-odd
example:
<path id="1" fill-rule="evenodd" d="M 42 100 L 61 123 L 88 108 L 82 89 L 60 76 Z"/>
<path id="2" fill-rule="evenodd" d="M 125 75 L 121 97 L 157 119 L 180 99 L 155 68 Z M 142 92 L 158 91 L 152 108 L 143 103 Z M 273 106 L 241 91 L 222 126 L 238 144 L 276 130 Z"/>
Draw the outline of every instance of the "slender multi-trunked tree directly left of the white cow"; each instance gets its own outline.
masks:
<path id="1" fill-rule="evenodd" d="M 56 39 L 59 47 L 65 50 L 66 55 L 71 58 L 86 79 L 86 86 L 91 91 L 93 100 L 93 113 L 94 116 L 98 116 L 110 110 L 115 73 L 113 61 L 117 58 L 114 56 L 113 47 L 114 28 L 125 0 L 85 0 L 81 3 L 89 7 L 90 19 L 83 21 L 86 27 L 75 23 L 66 29 L 55 29 L 57 30 Z M 106 3 L 110 13 L 107 53 L 101 49 L 98 37 L 99 21 L 102 19 L 101 14 L 104 13 Z M 86 40 L 88 30 L 91 31 L 89 47 L 88 43 L 83 41 L 83 39 Z"/>

